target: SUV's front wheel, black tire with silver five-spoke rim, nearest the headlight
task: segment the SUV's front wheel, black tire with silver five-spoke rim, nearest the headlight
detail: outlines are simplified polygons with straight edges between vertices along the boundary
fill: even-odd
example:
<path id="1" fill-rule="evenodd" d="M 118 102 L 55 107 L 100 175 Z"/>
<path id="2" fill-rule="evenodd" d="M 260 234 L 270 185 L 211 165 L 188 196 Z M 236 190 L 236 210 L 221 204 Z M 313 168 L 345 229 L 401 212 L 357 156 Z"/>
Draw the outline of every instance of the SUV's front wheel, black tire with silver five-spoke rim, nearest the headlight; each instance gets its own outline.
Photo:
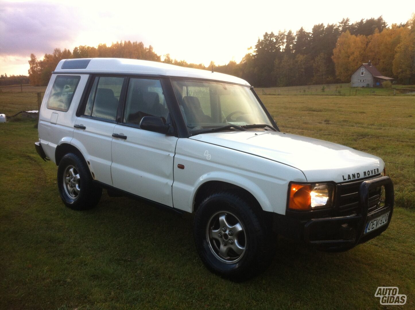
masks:
<path id="1" fill-rule="evenodd" d="M 227 231 L 223 227 L 222 231 L 217 230 L 218 227 L 221 229 L 218 225 L 220 217 L 221 223 L 226 220 Z M 230 234 L 238 222 L 243 231 Z M 219 239 L 210 237 L 216 232 L 218 236 L 219 233 L 222 235 Z M 195 215 L 194 236 L 196 249 L 207 269 L 232 281 L 245 281 L 264 271 L 271 262 L 275 248 L 271 225 L 261 207 L 237 191 L 214 193 L 200 203 Z M 232 244 L 229 244 L 230 236 L 234 238 Z M 221 243 L 225 239 L 226 245 Z M 230 248 L 226 250 L 226 247 Z M 225 249 L 226 257 L 222 256 L 220 249 Z"/>

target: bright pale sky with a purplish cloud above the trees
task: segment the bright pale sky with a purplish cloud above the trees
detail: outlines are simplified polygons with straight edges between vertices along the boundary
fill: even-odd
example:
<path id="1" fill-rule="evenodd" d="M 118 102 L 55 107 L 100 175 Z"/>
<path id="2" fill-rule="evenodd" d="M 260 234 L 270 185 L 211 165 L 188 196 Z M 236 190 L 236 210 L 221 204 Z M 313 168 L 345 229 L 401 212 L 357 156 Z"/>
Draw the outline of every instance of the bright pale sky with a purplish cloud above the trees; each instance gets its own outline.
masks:
<path id="1" fill-rule="evenodd" d="M 348 5 L 353 3 L 353 5 Z M 361 4 L 359 6 L 359 3 Z M 388 24 L 406 22 L 413 0 L 339 1 L 88 1 L 0 0 L 0 72 L 25 74 L 29 55 L 41 58 L 59 47 L 143 41 L 163 56 L 193 63 L 239 62 L 264 32 L 317 23 L 352 22 L 383 15 Z"/>

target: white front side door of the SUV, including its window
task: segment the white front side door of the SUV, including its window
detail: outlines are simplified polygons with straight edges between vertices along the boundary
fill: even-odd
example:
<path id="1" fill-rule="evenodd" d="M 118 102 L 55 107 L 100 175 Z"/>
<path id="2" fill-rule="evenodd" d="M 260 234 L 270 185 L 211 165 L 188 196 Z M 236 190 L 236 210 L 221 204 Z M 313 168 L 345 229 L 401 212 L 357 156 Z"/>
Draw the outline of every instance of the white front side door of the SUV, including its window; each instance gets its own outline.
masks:
<path id="1" fill-rule="evenodd" d="M 178 138 L 141 129 L 144 116 L 170 122 L 160 80 L 129 78 L 125 107 L 112 140 L 112 181 L 116 188 L 172 207 L 173 158 Z"/>

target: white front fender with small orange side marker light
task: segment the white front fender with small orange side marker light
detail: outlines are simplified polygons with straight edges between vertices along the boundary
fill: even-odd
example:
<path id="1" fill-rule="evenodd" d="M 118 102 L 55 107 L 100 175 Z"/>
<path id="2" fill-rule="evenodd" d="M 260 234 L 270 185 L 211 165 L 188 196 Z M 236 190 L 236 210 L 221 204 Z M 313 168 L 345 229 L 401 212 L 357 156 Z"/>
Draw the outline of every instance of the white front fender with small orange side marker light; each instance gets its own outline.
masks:
<path id="1" fill-rule="evenodd" d="M 200 186 L 222 181 L 247 190 L 263 210 L 285 214 L 288 183 L 307 181 L 291 166 L 186 138 L 176 144 L 173 175 L 173 206 L 187 212 L 193 212 Z"/>

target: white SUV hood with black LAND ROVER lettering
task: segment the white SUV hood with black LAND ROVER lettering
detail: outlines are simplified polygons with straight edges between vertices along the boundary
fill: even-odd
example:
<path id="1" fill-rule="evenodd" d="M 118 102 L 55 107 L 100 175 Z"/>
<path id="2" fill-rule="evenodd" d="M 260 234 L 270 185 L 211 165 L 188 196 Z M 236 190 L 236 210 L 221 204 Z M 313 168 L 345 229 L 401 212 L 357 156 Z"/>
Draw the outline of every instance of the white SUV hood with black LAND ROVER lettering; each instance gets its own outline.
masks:
<path id="1" fill-rule="evenodd" d="M 303 171 L 308 182 L 345 182 L 373 176 L 382 159 L 347 146 L 283 132 L 234 131 L 198 134 L 190 139 L 278 161 Z"/>

